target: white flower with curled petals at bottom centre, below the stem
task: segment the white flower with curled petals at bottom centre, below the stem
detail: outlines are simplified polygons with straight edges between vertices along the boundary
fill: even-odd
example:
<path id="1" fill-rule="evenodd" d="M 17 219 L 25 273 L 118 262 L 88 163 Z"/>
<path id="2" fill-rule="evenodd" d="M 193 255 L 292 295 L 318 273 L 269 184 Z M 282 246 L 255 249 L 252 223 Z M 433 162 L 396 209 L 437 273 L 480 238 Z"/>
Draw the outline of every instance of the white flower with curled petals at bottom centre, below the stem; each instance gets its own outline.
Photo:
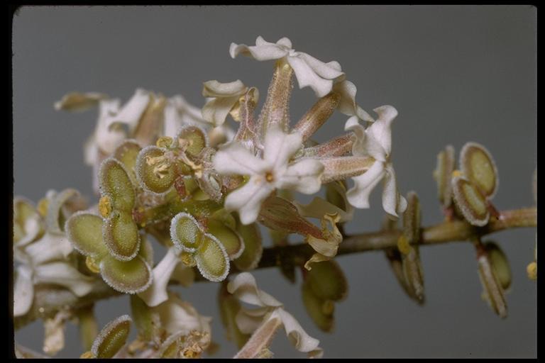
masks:
<path id="1" fill-rule="evenodd" d="M 308 352 L 309 357 L 313 358 L 322 356 L 323 350 L 319 347 L 319 340 L 308 335 L 293 315 L 284 310 L 284 306 L 280 301 L 258 289 L 252 274 L 248 272 L 238 274 L 233 281 L 229 282 L 227 290 L 236 296 L 238 300 L 258 306 L 255 309 L 242 307 L 237 313 L 235 320 L 241 333 L 253 333 L 268 321 L 279 319 L 290 342 L 299 352 Z"/>

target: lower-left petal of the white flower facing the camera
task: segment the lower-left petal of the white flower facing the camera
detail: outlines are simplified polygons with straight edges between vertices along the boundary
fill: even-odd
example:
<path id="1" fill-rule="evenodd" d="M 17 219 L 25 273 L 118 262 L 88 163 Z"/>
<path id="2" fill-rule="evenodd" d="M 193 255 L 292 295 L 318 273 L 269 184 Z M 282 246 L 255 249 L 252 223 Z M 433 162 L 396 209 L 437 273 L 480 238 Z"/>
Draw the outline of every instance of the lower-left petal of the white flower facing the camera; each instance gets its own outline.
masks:
<path id="1" fill-rule="evenodd" d="M 242 224 L 248 225 L 258 218 L 261 203 L 273 190 L 263 177 L 251 177 L 241 188 L 231 191 L 224 206 L 228 211 L 238 211 Z"/>

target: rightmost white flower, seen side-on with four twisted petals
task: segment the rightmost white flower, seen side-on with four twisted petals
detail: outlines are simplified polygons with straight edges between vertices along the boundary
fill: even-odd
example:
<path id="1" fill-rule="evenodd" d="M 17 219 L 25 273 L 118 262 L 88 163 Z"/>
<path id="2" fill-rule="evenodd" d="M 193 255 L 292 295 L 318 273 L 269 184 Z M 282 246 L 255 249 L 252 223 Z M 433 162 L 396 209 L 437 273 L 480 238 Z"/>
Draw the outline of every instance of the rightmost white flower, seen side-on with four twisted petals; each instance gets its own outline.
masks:
<path id="1" fill-rule="evenodd" d="M 382 207 L 392 217 L 398 217 L 407 208 L 407 201 L 397 191 L 395 172 L 390 162 L 392 149 L 392 121 L 397 116 L 397 110 L 392 106 L 375 108 L 378 120 L 367 129 L 358 123 L 358 118 L 352 116 L 346 121 L 345 130 L 356 134 L 352 153 L 355 156 L 373 157 L 375 162 L 367 172 L 353 177 L 353 188 L 346 192 L 346 198 L 356 208 L 369 208 L 369 194 L 378 182 L 384 179 L 382 190 Z"/>

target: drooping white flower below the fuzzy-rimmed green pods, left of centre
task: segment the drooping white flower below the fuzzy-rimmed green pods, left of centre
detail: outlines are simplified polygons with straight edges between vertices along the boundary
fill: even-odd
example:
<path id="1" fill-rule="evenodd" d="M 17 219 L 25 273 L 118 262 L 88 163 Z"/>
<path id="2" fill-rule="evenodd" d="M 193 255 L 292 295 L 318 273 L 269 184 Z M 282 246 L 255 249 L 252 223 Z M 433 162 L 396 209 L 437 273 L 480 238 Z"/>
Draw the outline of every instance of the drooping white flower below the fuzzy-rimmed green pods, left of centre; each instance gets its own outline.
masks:
<path id="1" fill-rule="evenodd" d="M 153 268 L 153 282 L 148 289 L 138 293 L 146 305 L 153 307 L 167 301 L 167 285 L 171 278 L 178 277 L 177 280 L 184 286 L 192 283 L 193 270 L 181 263 L 179 258 L 181 252 L 176 247 L 170 247 L 165 257 Z"/>

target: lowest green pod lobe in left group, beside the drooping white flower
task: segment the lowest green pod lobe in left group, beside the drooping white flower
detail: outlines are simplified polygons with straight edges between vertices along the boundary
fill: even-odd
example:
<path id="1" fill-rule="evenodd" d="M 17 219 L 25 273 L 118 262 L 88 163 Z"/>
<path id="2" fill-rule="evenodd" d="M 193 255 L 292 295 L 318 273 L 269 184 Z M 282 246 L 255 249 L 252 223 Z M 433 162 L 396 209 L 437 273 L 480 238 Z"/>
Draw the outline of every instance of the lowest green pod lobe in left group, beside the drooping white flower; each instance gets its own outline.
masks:
<path id="1" fill-rule="evenodd" d="M 100 262 L 100 273 L 106 284 L 124 294 L 148 289 L 153 276 L 150 265 L 140 256 L 131 261 L 119 261 L 106 255 Z"/>

